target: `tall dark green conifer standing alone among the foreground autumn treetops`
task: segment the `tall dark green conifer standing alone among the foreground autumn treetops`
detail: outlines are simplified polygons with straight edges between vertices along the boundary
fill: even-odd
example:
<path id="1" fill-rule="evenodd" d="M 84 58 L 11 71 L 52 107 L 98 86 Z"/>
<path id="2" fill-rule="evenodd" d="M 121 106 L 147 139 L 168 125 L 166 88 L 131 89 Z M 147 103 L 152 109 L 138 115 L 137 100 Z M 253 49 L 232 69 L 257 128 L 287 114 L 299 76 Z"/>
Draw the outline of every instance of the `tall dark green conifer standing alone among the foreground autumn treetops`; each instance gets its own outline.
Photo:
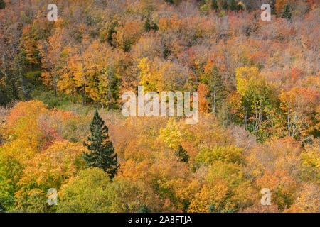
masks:
<path id="1" fill-rule="evenodd" d="M 109 140 L 108 128 L 105 121 L 95 111 L 95 116 L 90 124 L 91 135 L 87 138 L 84 145 L 90 150 L 90 153 L 83 153 L 82 157 L 87 163 L 87 167 L 98 167 L 108 173 L 112 179 L 116 174 L 119 165 L 117 165 L 117 154 L 114 153 L 114 147 Z"/>

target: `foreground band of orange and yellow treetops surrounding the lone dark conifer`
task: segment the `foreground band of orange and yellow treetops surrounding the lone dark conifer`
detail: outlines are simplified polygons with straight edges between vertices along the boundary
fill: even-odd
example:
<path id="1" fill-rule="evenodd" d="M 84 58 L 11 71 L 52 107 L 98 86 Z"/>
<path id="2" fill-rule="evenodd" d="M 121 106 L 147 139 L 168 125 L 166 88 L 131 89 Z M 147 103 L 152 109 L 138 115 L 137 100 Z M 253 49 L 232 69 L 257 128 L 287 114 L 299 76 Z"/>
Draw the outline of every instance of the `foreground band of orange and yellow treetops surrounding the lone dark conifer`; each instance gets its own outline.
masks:
<path id="1" fill-rule="evenodd" d="M 107 122 L 114 121 L 103 113 Z M 319 209 L 311 194 L 319 178 L 316 141 L 305 147 L 291 137 L 256 143 L 240 127 L 220 128 L 210 114 L 196 125 L 174 118 L 116 117 L 118 123 L 109 128 L 121 165 L 111 182 L 102 170 L 84 170 L 86 148 L 77 141 L 85 136 L 63 133 L 68 126 L 82 127 L 74 121 L 84 118 L 90 116 L 49 110 L 40 101 L 11 109 L 0 148 L 0 201 L 6 209 L 137 212 L 141 204 L 169 212 Z M 60 199 L 55 208 L 45 202 L 51 187 Z M 259 205 L 263 187 L 272 192 L 267 210 Z"/>

